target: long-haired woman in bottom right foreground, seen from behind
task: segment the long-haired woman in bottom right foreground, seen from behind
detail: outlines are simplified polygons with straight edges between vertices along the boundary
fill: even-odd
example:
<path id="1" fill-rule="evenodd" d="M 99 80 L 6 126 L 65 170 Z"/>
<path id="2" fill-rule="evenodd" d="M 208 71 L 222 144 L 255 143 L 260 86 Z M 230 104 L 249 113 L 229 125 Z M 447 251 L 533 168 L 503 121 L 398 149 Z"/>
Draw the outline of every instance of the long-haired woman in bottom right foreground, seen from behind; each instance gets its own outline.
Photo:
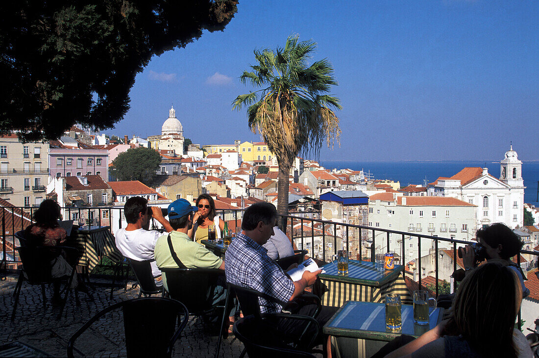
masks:
<path id="1" fill-rule="evenodd" d="M 386 358 L 530 357 L 526 338 L 514 329 L 521 301 L 515 271 L 497 262 L 481 265 L 462 280 L 449 319 Z"/>

